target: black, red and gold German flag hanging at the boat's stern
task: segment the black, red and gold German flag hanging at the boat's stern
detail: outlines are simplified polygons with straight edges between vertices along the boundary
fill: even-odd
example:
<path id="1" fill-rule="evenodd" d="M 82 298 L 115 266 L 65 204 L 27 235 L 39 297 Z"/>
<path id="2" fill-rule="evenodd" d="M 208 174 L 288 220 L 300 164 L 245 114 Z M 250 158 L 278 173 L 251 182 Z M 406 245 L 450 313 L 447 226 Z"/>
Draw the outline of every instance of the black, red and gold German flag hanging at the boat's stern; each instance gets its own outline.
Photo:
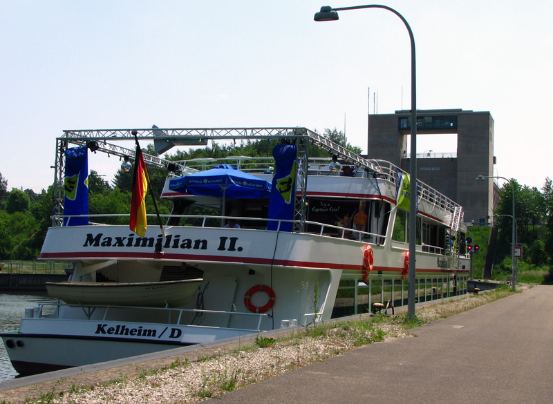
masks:
<path id="1" fill-rule="evenodd" d="M 150 178 L 146 164 L 144 163 L 144 155 L 140 150 L 140 145 L 136 143 L 136 156 L 134 161 L 133 175 L 133 196 L 131 199 L 131 220 L 129 227 L 140 237 L 146 234 L 146 192 Z"/>

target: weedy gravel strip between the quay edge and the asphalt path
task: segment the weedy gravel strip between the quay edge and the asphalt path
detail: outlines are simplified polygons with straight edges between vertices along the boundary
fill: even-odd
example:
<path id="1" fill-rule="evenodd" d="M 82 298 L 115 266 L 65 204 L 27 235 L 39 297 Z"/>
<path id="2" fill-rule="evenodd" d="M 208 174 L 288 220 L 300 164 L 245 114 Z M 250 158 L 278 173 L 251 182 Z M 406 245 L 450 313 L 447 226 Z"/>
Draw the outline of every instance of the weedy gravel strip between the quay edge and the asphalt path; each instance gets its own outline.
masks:
<path id="1" fill-rule="evenodd" d="M 500 293 L 507 296 L 509 292 Z M 422 323 L 429 323 L 496 300 L 494 295 L 480 294 L 436 302 L 418 309 L 417 316 Z M 54 388 L 50 392 L 43 392 L 39 398 L 17 403 L 197 403 L 360 345 L 380 342 L 386 338 L 412 336 L 402 318 L 396 318 L 391 323 L 378 323 L 376 320 L 370 323 L 365 318 L 348 323 L 332 323 L 324 328 L 326 332 L 302 330 L 277 340 L 261 338 L 259 342 L 265 343 L 267 347 L 261 348 L 256 343 L 250 343 L 231 352 L 219 350 L 209 356 L 200 356 L 197 360 L 176 360 L 164 369 L 142 371 L 138 376 L 120 376 L 101 385 L 73 385 L 72 389 L 65 392 Z"/>

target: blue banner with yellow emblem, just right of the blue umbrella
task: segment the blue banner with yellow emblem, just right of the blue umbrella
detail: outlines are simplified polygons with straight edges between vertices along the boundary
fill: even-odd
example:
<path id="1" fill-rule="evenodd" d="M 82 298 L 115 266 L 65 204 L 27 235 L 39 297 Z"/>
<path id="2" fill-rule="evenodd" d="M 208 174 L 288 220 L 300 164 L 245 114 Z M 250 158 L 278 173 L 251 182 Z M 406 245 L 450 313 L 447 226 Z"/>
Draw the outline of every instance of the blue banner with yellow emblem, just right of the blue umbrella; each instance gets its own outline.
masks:
<path id="1" fill-rule="evenodd" d="M 277 144 L 272 151 L 274 176 L 269 198 L 269 219 L 294 220 L 296 197 L 296 146 Z M 268 222 L 268 230 L 277 230 L 279 222 Z M 292 231 L 292 223 L 282 222 L 281 231 Z"/>

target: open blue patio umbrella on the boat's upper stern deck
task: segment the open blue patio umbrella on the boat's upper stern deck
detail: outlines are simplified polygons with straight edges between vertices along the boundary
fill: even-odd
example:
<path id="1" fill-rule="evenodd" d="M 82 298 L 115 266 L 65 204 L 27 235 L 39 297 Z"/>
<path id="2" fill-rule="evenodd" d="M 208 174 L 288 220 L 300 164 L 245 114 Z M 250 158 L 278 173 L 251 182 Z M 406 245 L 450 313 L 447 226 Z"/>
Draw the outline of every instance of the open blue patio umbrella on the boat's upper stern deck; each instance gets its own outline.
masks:
<path id="1" fill-rule="evenodd" d="M 229 164 L 220 164 L 213 169 L 174 178 L 169 181 L 169 189 L 180 193 L 223 198 L 224 216 L 225 198 L 269 198 L 271 183 Z"/>

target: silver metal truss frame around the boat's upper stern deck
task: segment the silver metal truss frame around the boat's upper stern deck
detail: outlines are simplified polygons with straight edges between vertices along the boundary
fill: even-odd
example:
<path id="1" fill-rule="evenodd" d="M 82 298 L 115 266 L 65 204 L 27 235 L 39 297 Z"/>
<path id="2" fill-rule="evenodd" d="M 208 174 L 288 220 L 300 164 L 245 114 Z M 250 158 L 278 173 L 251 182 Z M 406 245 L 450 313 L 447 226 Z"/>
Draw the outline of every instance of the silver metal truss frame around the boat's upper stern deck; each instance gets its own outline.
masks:
<path id="1" fill-rule="evenodd" d="M 156 131 L 154 133 L 154 131 Z M 162 135 L 160 135 L 160 133 Z M 57 138 L 57 153 L 55 161 L 55 213 L 57 216 L 63 213 L 64 198 L 64 167 L 65 151 L 68 144 L 88 146 L 95 151 L 115 155 L 119 157 L 134 157 L 135 151 L 124 148 L 111 142 L 135 140 L 165 140 L 168 142 L 186 141 L 189 145 L 205 145 L 207 140 L 260 140 L 277 138 L 288 142 L 294 142 L 297 146 L 297 198 L 294 205 L 294 230 L 303 231 L 307 206 L 307 171 L 308 171 L 308 149 L 311 144 L 323 148 L 331 155 L 345 160 L 349 164 L 364 170 L 367 175 L 382 177 L 395 181 L 397 167 L 389 162 L 380 160 L 368 160 L 360 155 L 349 151 L 347 148 L 332 142 L 323 135 L 310 131 L 307 128 L 144 128 L 144 129 L 99 129 L 64 131 L 62 137 Z M 92 146 L 92 147 L 91 147 Z M 160 157 L 144 154 L 144 162 L 151 166 L 158 166 L 167 169 L 175 162 Z M 176 169 L 186 173 L 187 167 L 176 164 Z M 439 204 L 443 209 L 449 209 L 453 214 L 451 228 L 459 231 L 462 222 L 461 207 L 453 200 L 445 197 L 427 184 L 418 182 L 418 198 L 429 200 Z M 59 223 L 56 223 L 59 224 Z"/>

